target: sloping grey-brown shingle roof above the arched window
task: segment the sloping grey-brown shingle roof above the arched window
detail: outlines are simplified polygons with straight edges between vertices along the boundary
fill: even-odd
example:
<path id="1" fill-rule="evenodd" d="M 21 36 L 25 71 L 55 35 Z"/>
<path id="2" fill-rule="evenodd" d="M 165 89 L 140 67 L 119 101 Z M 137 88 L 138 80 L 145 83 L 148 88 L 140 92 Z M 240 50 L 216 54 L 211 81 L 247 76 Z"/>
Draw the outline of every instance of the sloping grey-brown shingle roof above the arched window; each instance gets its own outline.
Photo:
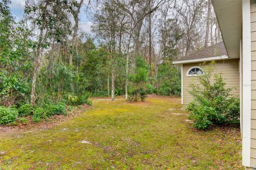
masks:
<path id="1" fill-rule="evenodd" d="M 228 55 L 226 47 L 223 42 L 206 47 L 203 50 L 199 50 L 197 52 L 191 53 L 175 61 L 203 59 L 203 58 L 209 58 L 209 57 L 221 56 L 221 55 Z"/>

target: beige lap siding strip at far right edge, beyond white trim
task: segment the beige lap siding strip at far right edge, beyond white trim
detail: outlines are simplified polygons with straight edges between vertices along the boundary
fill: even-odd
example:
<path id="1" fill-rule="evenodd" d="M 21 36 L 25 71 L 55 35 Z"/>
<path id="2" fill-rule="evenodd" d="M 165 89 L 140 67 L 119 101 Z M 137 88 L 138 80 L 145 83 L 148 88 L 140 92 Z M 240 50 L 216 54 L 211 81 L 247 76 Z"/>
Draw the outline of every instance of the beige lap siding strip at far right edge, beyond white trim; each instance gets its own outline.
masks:
<path id="1" fill-rule="evenodd" d="M 251 2 L 251 166 L 256 168 L 256 3 Z"/>

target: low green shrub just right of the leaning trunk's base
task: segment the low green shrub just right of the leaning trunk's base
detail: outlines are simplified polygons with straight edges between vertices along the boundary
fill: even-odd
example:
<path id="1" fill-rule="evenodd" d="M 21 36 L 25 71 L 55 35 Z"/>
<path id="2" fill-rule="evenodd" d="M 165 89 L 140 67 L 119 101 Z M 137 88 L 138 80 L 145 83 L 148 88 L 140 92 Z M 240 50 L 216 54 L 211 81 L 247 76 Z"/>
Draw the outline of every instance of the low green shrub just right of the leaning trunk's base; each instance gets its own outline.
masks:
<path id="1" fill-rule="evenodd" d="M 65 103 L 63 102 L 45 104 L 43 108 L 49 117 L 53 115 L 67 115 Z"/>

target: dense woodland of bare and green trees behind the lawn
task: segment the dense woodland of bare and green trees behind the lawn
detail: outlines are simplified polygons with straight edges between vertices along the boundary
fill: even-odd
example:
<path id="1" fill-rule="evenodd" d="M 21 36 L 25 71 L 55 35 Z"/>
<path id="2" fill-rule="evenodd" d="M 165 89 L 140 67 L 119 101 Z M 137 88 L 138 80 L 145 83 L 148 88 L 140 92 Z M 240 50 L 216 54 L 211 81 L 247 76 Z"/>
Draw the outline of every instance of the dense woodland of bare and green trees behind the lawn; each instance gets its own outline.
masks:
<path id="1" fill-rule="evenodd" d="M 89 96 L 179 96 L 172 61 L 221 41 L 210 0 L 28 0 L 21 20 L 10 4 L 0 2 L 0 105 L 36 107 L 38 119 Z"/>

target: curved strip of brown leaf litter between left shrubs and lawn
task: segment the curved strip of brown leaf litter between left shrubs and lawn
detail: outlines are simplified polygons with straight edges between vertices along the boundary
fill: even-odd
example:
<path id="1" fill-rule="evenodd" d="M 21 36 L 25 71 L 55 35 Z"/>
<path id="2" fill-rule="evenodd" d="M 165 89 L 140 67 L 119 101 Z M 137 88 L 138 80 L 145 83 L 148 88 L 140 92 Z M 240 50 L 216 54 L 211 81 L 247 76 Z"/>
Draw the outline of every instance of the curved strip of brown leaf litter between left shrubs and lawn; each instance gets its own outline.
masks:
<path id="1" fill-rule="evenodd" d="M 31 120 L 31 117 L 26 117 L 29 120 L 29 123 L 27 125 L 22 125 L 21 123 L 18 123 L 17 126 L 0 126 L 0 135 L 4 134 L 10 134 L 10 133 L 30 133 L 35 131 L 36 129 L 48 129 L 54 126 L 57 126 L 63 122 L 66 122 L 73 117 L 77 117 L 81 115 L 85 110 L 89 109 L 90 107 L 86 104 L 80 105 L 78 107 L 75 107 L 73 110 L 68 111 L 68 115 L 54 115 L 49 118 L 49 121 L 46 122 L 45 120 L 42 120 L 42 122 L 39 123 L 33 123 Z M 31 130 L 31 131 L 30 131 Z"/>

